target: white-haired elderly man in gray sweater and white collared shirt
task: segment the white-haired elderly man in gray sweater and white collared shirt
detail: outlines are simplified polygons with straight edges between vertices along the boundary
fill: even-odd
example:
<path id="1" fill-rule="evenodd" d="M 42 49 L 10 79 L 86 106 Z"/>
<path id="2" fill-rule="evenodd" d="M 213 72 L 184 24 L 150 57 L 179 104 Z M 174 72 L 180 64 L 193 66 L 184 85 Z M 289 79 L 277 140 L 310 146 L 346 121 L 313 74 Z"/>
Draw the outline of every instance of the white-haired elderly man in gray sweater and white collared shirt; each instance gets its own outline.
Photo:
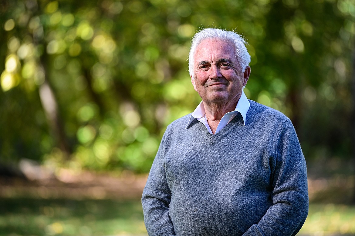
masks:
<path id="1" fill-rule="evenodd" d="M 244 39 L 203 29 L 189 71 L 202 98 L 165 131 L 143 191 L 150 236 L 291 236 L 308 213 L 306 163 L 284 114 L 248 100 Z"/>

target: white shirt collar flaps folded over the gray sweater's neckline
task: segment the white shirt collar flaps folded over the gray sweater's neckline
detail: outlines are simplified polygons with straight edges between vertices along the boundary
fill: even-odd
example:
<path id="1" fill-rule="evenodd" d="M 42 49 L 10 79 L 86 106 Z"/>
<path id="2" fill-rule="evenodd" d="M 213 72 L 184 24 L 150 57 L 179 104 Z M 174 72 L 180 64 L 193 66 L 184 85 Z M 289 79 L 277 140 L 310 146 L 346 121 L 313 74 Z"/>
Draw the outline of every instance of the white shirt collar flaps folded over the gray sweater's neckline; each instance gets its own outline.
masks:
<path id="1" fill-rule="evenodd" d="M 242 94 L 240 96 L 240 99 L 239 99 L 234 111 L 232 111 L 232 112 L 239 112 L 242 115 L 244 125 L 246 124 L 246 113 L 249 111 L 249 107 L 250 107 L 250 102 L 247 99 L 244 91 L 242 90 Z M 198 104 L 198 106 L 196 107 L 195 111 L 192 112 L 192 114 L 190 116 L 189 123 L 186 125 L 186 129 L 192 123 L 192 120 L 194 120 L 195 118 L 196 119 L 201 118 L 205 114 L 206 114 L 206 112 L 204 110 L 203 101 L 201 101 L 200 104 Z"/>

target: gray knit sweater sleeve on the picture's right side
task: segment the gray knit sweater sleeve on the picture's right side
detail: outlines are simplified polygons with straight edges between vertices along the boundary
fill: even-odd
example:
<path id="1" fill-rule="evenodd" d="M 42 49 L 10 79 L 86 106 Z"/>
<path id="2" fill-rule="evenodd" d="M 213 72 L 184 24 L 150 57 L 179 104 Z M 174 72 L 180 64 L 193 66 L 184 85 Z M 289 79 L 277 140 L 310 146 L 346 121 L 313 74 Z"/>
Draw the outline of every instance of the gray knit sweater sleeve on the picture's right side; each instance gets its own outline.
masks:
<path id="1" fill-rule="evenodd" d="M 308 214 L 306 162 L 295 132 L 288 119 L 279 132 L 271 158 L 273 205 L 257 224 L 242 236 L 293 236 L 301 229 Z"/>

